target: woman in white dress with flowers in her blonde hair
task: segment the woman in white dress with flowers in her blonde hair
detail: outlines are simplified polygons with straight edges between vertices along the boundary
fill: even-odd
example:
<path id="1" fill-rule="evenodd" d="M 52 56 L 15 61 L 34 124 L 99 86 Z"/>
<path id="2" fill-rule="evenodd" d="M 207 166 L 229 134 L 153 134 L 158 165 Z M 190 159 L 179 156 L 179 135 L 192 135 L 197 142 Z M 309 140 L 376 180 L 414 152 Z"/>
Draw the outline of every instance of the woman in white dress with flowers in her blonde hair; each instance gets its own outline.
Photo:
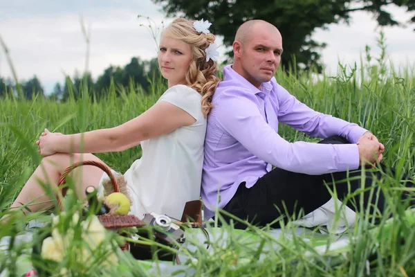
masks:
<path id="1" fill-rule="evenodd" d="M 44 159 L 12 208 L 33 202 L 39 204 L 31 204 L 31 211 L 48 208 L 49 203 L 42 203 L 49 198 L 41 182 L 56 188 L 71 164 L 100 161 L 93 154 L 79 153 L 122 151 L 140 144 L 142 158 L 124 174 L 131 212 L 140 218 L 149 212 L 180 218 L 185 202 L 199 199 L 206 116 L 219 83 L 215 37 L 209 27 L 208 21 L 176 19 L 163 30 L 158 65 L 169 89 L 140 116 L 117 127 L 83 134 L 62 135 L 45 129 L 37 141 Z M 107 177 L 93 166 L 73 171 L 82 174 L 82 182 L 77 182 L 79 197 L 84 197 L 86 186 L 102 188 Z"/>

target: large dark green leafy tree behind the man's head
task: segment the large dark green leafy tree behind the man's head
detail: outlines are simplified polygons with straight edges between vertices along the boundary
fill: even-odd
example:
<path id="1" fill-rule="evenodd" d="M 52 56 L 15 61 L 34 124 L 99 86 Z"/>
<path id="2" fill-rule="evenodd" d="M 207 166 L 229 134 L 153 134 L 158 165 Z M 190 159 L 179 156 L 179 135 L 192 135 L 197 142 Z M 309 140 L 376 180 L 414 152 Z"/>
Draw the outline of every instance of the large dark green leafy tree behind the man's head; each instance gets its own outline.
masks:
<path id="1" fill-rule="evenodd" d="M 384 8 L 406 6 L 415 10 L 415 0 L 152 0 L 160 3 L 167 16 L 184 14 L 194 19 L 208 19 L 210 30 L 223 35 L 226 46 L 232 45 L 234 35 L 244 21 L 264 19 L 279 28 L 283 37 L 282 65 L 288 69 L 295 64 L 303 69 L 315 66 L 322 70 L 319 44 L 311 39 L 315 28 L 326 28 L 340 21 L 349 23 L 351 12 L 372 12 L 378 24 L 400 25 Z M 411 22 L 415 22 L 412 17 Z M 293 58 L 295 56 L 295 59 Z"/>

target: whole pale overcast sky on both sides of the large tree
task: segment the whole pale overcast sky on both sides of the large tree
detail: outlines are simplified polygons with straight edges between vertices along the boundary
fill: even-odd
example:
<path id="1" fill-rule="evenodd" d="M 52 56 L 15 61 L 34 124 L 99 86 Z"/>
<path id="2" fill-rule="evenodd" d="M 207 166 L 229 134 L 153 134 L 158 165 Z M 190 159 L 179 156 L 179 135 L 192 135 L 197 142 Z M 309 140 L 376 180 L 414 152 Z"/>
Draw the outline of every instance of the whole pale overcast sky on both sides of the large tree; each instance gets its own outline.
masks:
<path id="1" fill-rule="evenodd" d="M 62 84 L 65 74 L 73 76 L 75 71 L 82 73 L 85 69 L 81 15 L 85 26 L 91 26 L 89 70 L 94 80 L 110 64 L 124 66 L 134 56 L 142 60 L 156 57 L 153 37 L 147 28 L 140 27 L 147 23 L 137 15 L 151 17 L 158 26 L 162 21 L 165 25 L 172 21 L 150 0 L 0 0 L 0 7 L 0 35 L 9 48 L 19 80 L 37 75 L 46 93 L 56 82 Z M 405 8 L 387 10 L 399 21 L 414 16 Z M 389 57 L 396 65 L 414 63 L 413 28 L 384 28 Z M 377 32 L 370 14 L 354 12 L 350 26 L 331 25 L 328 30 L 315 30 L 313 38 L 328 44 L 322 52 L 323 62 L 330 73 L 335 73 L 339 60 L 347 64 L 360 60 L 367 44 L 376 55 Z M 3 49 L 0 76 L 11 77 Z"/>

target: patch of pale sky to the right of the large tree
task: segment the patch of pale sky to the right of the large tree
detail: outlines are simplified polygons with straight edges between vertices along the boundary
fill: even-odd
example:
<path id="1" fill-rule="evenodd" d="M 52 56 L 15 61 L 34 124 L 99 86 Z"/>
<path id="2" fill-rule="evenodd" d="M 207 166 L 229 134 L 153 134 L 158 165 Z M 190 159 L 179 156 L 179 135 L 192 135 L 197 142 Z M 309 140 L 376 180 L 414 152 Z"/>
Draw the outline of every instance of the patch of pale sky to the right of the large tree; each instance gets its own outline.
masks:
<path id="1" fill-rule="evenodd" d="M 414 13 L 405 12 L 405 8 L 391 7 L 388 11 L 401 22 L 407 21 Z M 367 12 L 354 12 L 350 25 L 332 24 L 328 30 L 316 30 L 313 38 L 328 45 L 322 51 L 324 64 L 330 73 L 338 69 L 338 61 L 342 64 L 360 63 L 360 55 L 365 55 L 365 46 L 371 47 L 371 55 L 379 55 L 380 49 L 376 46 L 376 39 L 382 29 L 385 33 L 389 60 L 396 66 L 415 60 L 414 26 L 407 27 L 379 27 L 372 15 Z M 412 62 L 411 62 L 412 61 Z"/>

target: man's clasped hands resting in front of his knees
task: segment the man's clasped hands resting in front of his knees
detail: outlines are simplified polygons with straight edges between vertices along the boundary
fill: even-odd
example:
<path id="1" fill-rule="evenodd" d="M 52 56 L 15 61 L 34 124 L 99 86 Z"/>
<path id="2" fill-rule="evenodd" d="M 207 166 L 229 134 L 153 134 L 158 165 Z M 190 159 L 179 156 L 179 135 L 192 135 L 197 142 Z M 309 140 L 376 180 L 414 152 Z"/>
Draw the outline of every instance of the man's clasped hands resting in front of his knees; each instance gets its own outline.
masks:
<path id="1" fill-rule="evenodd" d="M 371 132 L 365 132 L 356 143 L 359 149 L 360 166 L 369 163 L 380 163 L 385 152 L 385 145 L 379 142 L 378 138 Z"/>

